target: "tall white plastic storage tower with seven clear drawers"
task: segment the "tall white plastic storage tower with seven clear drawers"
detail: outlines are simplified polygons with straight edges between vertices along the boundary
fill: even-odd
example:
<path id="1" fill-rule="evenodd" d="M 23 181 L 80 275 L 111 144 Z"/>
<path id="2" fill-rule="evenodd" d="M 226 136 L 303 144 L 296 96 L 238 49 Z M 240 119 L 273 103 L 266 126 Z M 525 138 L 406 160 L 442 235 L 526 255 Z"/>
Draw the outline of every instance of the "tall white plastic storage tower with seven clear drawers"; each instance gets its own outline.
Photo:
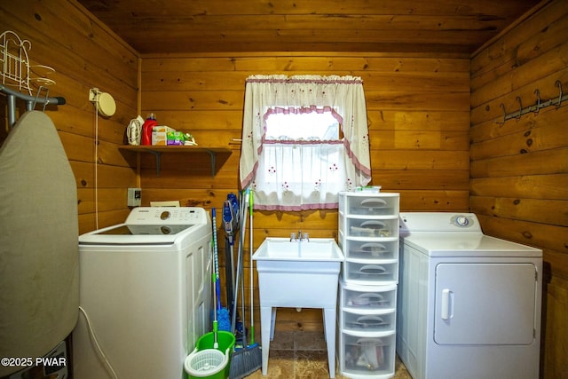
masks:
<path id="1" fill-rule="evenodd" d="M 394 376 L 398 288 L 398 193 L 339 193 L 337 359 L 351 378 Z"/>

